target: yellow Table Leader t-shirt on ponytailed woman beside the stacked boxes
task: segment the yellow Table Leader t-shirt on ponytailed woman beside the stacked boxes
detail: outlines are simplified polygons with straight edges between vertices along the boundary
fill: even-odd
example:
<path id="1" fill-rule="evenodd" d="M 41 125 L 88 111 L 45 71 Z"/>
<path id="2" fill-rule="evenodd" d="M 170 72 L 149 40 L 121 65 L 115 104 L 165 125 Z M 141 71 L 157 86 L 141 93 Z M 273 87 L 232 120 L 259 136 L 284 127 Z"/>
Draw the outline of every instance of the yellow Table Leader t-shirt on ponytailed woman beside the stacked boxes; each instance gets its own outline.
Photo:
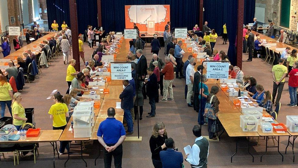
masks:
<path id="1" fill-rule="evenodd" d="M 66 125 L 65 113 L 68 108 L 64 103 L 55 103 L 51 106 L 49 114 L 53 115 L 53 127 L 62 127 Z"/>

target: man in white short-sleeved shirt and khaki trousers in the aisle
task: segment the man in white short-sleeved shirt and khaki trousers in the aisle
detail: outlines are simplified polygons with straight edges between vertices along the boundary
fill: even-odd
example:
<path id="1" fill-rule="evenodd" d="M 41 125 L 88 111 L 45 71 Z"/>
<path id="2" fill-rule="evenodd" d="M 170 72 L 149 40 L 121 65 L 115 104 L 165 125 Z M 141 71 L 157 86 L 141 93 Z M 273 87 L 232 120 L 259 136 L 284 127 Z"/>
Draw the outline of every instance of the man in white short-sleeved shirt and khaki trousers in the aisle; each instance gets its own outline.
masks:
<path id="1" fill-rule="evenodd" d="M 186 85 L 187 85 L 187 96 L 186 96 L 186 103 L 187 106 L 189 107 L 193 107 L 193 105 L 191 104 L 191 96 L 192 96 L 192 87 L 193 87 L 193 83 L 194 83 L 194 65 L 196 65 L 196 59 L 191 58 L 189 60 L 189 64 L 187 65 L 186 68 Z"/>

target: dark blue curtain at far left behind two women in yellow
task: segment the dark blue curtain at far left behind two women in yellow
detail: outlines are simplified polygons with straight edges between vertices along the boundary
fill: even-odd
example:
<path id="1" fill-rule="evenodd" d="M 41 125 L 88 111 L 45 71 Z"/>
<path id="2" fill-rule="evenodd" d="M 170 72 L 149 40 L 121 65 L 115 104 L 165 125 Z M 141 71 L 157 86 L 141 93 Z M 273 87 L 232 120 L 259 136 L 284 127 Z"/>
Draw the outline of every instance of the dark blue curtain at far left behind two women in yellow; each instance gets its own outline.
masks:
<path id="1" fill-rule="evenodd" d="M 47 15 L 49 29 L 52 30 L 51 25 L 54 20 L 59 25 L 58 30 L 61 30 L 61 24 L 63 21 L 66 22 L 67 26 L 71 27 L 70 16 L 69 16 L 69 1 L 61 0 L 49 0 L 46 1 L 47 4 Z"/>

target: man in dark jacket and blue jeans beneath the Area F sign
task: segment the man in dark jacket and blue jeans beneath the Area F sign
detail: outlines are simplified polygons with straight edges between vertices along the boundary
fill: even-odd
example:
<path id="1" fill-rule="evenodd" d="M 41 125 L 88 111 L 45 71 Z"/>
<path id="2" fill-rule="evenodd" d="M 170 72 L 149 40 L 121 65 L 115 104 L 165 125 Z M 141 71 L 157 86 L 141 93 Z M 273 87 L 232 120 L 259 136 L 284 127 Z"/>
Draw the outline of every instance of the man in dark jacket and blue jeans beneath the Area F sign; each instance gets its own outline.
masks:
<path id="1" fill-rule="evenodd" d="M 124 118 L 127 122 L 126 134 L 133 134 L 133 118 L 130 113 L 130 109 L 133 108 L 133 86 L 129 84 L 128 80 L 122 80 L 124 89 L 119 95 L 121 99 L 121 108 L 124 110 Z"/>

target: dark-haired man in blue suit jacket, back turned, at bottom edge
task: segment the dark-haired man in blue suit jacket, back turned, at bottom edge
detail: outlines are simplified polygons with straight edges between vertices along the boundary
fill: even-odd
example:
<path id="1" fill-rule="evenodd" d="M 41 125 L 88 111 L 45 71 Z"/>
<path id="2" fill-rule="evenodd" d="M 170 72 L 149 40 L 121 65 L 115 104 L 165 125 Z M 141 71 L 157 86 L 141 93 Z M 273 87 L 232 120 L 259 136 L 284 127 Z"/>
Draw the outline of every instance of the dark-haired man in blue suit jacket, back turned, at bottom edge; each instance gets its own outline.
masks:
<path id="1" fill-rule="evenodd" d="M 180 168 L 183 163 L 183 155 L 181 152 L 175 151 L 175 142 L 173 138 L 165 140 L 167 150 L 160 151 L 159 156 L 162 161 L 163 168 Z"/>

